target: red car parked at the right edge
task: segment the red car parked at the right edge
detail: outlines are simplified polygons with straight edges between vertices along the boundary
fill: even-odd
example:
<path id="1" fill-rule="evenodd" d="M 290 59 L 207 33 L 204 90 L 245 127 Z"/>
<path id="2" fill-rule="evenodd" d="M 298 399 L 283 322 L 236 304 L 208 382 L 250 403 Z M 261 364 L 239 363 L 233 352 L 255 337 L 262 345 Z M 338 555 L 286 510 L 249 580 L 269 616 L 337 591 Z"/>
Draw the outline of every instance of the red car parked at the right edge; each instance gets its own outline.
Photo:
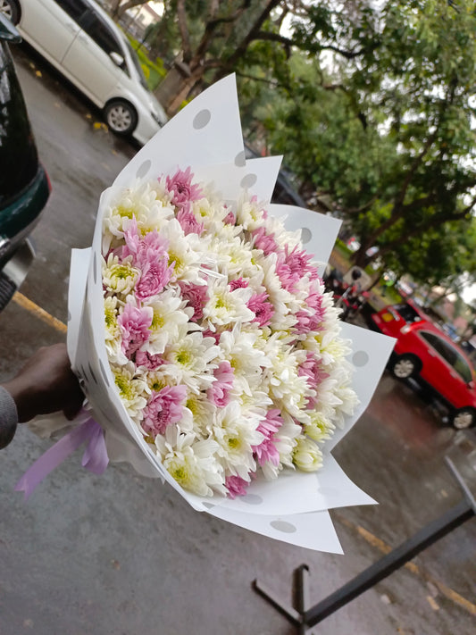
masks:
<path id="1" fill-rule="evenodd" d="M 399 379 L 429 386 L 449 406 L 452 425 L 476 422 L 476 375 L 460 347 L 411 303 L 387 306 L 370 316 L 372 328 L 397 338 L 389 370 Z"/>

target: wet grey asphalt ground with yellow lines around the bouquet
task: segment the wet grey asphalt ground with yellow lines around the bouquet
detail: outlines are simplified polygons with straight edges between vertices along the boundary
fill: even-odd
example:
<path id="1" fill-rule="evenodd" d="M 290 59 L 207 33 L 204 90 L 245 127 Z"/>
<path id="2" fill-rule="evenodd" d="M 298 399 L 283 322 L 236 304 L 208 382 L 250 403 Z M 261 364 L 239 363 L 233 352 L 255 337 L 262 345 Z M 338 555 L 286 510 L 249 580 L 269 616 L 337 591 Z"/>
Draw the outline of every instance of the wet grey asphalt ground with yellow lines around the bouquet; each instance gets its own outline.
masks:
<path id="1" fill-rule="evenodd" d="M 98 197 L 137 150 L 29 49 L 15 59 L 53 194 L 34 232 L 35 267 L 0 315 L 0 379 L 38 346 L 65 338 L 71 247 L 90 244 Z M 93 476 L 78 455 L 24 503 L 14 484 L 49 446 L 21 428 L 0 454 L 0 635 L 290 635 L 251 581 L 290 603 L 291 573 L 306 563 L 314 604 L 459 502 L 444 455 L 458 450 L 476 469 L 471 434 L 447 428 L 431 404 L 385 374 L 335 452 L 380 505 L 332 514 L 346 553 L 333 556 L 197 514 L 126 465 Z M 475 544 L 473 519 L 313 632 L 470 635 Z"/>

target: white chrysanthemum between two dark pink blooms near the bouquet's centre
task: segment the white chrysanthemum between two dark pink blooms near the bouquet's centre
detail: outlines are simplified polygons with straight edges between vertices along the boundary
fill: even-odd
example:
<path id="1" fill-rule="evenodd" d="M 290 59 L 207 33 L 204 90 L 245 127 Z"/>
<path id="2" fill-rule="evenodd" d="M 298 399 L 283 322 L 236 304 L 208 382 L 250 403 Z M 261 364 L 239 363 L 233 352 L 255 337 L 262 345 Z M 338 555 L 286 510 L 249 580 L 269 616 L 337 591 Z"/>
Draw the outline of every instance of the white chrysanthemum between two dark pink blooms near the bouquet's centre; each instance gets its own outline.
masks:
<path id="1" fill-rule="evenodd" d="M 208 301 L 204 306 L 204 320 L 208 323 L 208 328 L 214 331 L 217 326 L 254 320 L 255 313 L 246 306 L 252 293 L 253 291 L 248 288 L 230 291 L 228 280 L 210 280 Z"/>

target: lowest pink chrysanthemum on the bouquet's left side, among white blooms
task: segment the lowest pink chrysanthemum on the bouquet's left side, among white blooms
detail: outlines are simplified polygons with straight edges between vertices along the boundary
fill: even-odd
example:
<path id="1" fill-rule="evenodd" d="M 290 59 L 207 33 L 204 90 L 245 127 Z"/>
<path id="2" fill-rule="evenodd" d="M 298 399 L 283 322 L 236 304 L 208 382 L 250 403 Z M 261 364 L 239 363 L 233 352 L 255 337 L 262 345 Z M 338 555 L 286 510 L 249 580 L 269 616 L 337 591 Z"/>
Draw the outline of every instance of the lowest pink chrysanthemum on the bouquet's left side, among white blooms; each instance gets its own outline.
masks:
<path id="1" fill-rule="evenodd" d="M 167 426 L 180 422 L 186 397 L 187 387 L 180 385 L 154 392 L 144 408 L 143 430 L 155 437 L 164 434 Z"/>

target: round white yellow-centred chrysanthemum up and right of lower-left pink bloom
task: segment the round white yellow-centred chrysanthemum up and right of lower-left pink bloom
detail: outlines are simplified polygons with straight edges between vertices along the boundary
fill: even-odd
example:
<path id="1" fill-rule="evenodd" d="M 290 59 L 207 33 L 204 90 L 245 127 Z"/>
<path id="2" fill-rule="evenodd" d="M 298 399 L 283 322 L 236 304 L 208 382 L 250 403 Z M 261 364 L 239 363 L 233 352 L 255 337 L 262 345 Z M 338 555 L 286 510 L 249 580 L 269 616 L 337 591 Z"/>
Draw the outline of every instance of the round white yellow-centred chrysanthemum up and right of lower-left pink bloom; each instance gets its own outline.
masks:
<path id="1" fill-rule="evenodd" d="M 193 392 L 208 389 L 214 381 L 214 361 L 220 348 L 213 338 L 204 338 L 201 332 L 187 333 L 165 349 L 166 362 L 161 369 L 177 384 L 185 384 Z"/>

